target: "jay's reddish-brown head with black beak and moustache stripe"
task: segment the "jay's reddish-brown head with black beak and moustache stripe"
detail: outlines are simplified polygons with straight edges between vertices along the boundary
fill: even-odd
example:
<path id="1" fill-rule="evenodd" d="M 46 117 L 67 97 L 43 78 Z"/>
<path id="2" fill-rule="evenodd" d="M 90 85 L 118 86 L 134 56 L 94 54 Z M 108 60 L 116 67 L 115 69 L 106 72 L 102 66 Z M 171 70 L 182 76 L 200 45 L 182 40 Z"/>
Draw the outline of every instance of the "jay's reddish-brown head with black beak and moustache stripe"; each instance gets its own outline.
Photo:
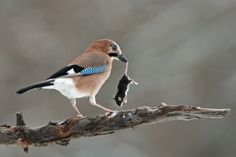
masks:
<path id="1" fill-rule="evenodd" d="M 119 45 L 110 39 L 97 40 L 92 43 L 86 51 L 104 53 L 110 56 L 112 59 L 120 60 L 125 63 L 128 62 L 126 57 L 122 54 Z"/>

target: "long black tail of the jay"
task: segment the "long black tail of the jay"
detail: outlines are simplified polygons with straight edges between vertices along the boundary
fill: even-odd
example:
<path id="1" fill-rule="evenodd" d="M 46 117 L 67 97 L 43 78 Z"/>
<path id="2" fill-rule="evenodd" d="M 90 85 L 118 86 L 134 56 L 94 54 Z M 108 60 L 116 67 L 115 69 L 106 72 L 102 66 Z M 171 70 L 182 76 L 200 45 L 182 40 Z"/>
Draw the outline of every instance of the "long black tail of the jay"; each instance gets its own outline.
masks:
<path id="1" fill-rule="evenodd" d="M 17 94 L 22 94 L 22 93 L 27 92 L 28 90 L 31 90 L 31 89 L 51 86 L 51 85 L 53 85 L 53 82 L 54 82 L 53 79 L 42 81 L 42 82 L 38 82 L 38 83 L 35 83 L 35 84 L 32 84 L 32 85 L 29 85 L 29 86 L 27 86 L 25 88 L 22 88 L 22 89 L 18 90 L 16 93 Z"/>

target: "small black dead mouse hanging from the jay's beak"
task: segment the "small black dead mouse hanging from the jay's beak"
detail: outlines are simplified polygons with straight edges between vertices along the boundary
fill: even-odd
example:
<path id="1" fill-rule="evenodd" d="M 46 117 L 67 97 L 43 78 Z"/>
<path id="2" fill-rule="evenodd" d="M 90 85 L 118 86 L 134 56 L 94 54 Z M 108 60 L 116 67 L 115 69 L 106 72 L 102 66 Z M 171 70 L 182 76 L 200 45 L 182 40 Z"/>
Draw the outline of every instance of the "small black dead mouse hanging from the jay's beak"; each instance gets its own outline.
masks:
<path id="1" fill-rule="evenodd" d="M 118 84 L 118 91 L 116 96 L 113 98 L 118 106 L 122 106 L 123 103 L 127 103 L 127 94 L 129 91 L 129 85 L 138 83 L 135 82 L 133 79 L 130 79 L 126 74 L 120 79 Z"/>

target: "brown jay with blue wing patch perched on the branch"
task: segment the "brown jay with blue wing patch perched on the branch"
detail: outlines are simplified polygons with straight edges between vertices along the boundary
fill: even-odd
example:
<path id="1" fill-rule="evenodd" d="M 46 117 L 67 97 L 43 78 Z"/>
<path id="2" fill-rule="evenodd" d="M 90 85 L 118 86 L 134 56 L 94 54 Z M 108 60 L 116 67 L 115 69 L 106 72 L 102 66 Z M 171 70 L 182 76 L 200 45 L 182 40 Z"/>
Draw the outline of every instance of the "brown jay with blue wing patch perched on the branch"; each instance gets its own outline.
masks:
<path id="1" fill-rule="evenodd" d="M 113 60 L 128 62 L 115 41 L 96 40 L 81 55 L 46 80 L 28 85 L 16 93 L 22 94 L 32 89 L 56 90 L 70 100 L 79 117 L 84 116 L 80 113 L 76 100 L 83 97 L 88 97 L 91 105 L 113 112 L 96 102 L 97 93 L 111 74 Z"/>

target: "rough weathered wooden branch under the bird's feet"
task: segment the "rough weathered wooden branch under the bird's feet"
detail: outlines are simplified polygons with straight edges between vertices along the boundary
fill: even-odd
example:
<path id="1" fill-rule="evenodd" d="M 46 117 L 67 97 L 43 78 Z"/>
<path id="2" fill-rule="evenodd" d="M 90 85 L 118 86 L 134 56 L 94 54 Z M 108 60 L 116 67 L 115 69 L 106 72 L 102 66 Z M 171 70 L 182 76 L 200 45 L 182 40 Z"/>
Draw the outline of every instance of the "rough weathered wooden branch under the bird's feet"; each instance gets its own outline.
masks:
<path id="1" fill-rule="evenodd" d="M 29 146 L 46 146 L 49 143 L 68 145 L 72 138 L 112 134 L 115 131 L 141 124 L 223 118 L 229 111 L 230 109 L 176 106 L 163 103 L 158 107 L 143 106 L 111 115 L 97 115 L 82 119 L 72 117 L 63 121 L 49 122 L 38 128 L 26 127 L 22 114 L 17 113 L 16 126 L 0 125 L 0 144 L 18 145 L 28 152 Z"/>

